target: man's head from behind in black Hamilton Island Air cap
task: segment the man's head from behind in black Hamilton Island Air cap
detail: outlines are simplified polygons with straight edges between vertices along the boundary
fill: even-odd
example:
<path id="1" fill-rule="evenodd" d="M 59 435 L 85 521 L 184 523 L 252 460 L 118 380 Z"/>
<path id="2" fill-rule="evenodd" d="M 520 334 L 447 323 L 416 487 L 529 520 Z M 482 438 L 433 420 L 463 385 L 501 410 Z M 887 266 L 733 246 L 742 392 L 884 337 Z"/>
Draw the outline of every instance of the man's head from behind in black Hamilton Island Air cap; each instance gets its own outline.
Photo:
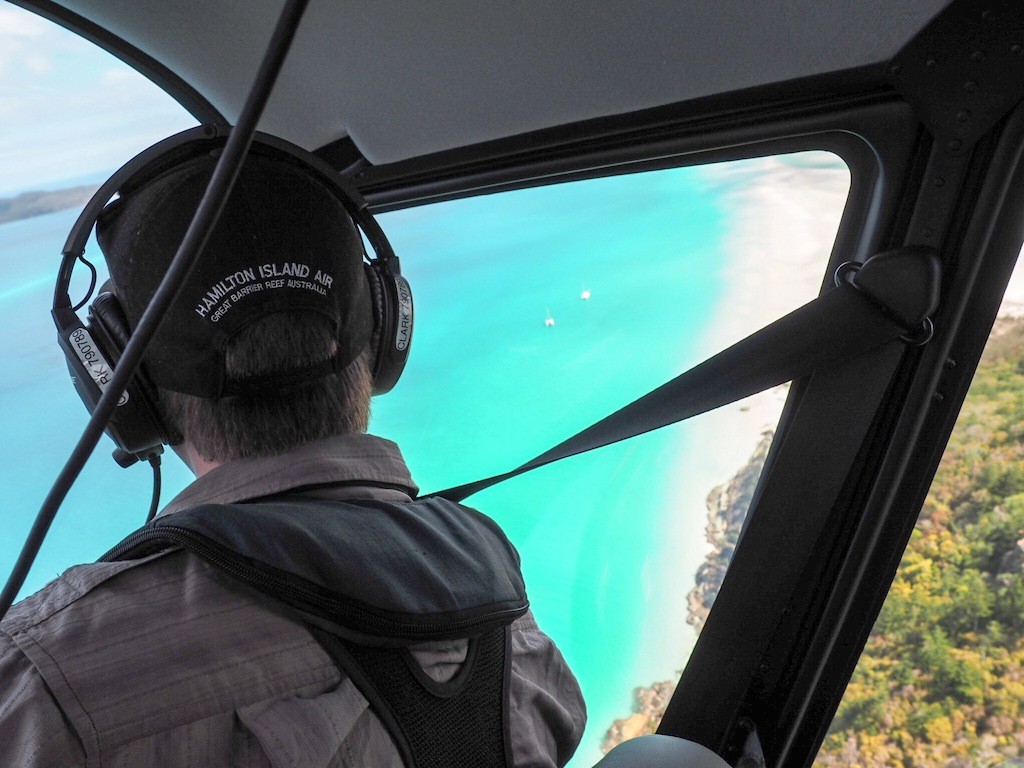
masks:
<path id="1" fill-rule="evenodd" d="M 97 239 L 129 330 L 215 161 L 177 165 L 100 216 Z M 143 368 L 172 441 L 217 463 L 272 455 L 366 430 L 373 326 L 361 241 L 337 196 L 295 163 L 250 157 Z"/>

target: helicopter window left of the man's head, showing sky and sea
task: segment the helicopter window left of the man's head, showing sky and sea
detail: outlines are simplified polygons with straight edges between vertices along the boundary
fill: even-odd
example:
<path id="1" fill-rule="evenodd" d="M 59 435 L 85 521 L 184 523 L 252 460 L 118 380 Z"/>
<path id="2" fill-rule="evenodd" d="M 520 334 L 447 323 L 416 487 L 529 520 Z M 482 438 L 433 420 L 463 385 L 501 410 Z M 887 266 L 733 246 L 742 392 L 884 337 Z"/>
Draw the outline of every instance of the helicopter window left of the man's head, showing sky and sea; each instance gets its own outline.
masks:
<path id="1" fill-rule="evenodd" d="M 196 125 L 176 101 L 77 35 L 0 4 L 0 327 L 10 359 L 0 374 L 8 439 L 0 446 L 0 569 L 10 572 L 36 512 L 85 425 L 49 318 L 55 270 L 72 224 L 118 166 L 155 141 Z M 87 257 L 105 279 L 98 248 Z M 88 289 L 79 267 L 71 294 Z M 22 591 L 95 560 L 144 518 L 152 477 L 120 470 L 106 438 L 57 516 Z M 166 462 L 170 488 L 187 470 Z M 169 497 L 165 497 L 169 498 Z"/>

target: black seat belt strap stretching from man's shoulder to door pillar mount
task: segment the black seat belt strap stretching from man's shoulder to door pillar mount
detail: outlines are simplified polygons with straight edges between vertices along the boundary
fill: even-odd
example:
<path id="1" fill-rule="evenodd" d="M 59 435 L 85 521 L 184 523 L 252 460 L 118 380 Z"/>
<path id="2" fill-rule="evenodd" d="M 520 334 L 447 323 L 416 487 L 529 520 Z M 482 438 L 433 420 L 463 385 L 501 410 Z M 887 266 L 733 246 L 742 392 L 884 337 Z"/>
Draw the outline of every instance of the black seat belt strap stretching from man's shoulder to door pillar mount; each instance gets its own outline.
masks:
<path id="1" fill-rule="evenodd" d="M 844 264 L 836 288 L 525 464 L 431 496 L 461 502 L 538 467 L 713 411 L 895 339 L 926 343 L 907 334 L 923 324 L 931 328 L 939 281 L 938 257 L 923 247 Z"/>

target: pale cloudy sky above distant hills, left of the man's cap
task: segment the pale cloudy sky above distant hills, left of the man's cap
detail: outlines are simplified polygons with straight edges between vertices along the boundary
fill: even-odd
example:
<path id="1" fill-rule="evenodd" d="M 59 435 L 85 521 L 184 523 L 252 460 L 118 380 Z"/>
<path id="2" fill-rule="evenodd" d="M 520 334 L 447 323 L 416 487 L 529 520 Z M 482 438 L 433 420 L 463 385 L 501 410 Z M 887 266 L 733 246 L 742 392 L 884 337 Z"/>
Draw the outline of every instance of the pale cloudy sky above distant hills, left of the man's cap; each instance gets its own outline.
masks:
<path id="1" fill-rule="evenodd" d="M 0 0 L 0 197 L 101 182 L 193 125 L 127 65 Z"/>

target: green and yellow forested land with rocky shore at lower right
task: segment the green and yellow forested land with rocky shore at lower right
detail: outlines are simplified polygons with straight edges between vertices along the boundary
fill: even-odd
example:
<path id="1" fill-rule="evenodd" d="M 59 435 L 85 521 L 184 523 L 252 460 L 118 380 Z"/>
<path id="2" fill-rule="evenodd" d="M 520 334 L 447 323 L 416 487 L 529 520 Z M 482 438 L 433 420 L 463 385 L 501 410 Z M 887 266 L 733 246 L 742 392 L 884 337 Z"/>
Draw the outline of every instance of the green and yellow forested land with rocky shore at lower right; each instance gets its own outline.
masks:
<path id="1" fill-rule="evenodd" d="M 770 440 L 708 500 L 697 630 Z M 637 689 L 604 749 L 651 732 L 674 681 Z M 992 334 L 818 768 L 968 768 L 1024 755 L 1024 321 Z"/>

